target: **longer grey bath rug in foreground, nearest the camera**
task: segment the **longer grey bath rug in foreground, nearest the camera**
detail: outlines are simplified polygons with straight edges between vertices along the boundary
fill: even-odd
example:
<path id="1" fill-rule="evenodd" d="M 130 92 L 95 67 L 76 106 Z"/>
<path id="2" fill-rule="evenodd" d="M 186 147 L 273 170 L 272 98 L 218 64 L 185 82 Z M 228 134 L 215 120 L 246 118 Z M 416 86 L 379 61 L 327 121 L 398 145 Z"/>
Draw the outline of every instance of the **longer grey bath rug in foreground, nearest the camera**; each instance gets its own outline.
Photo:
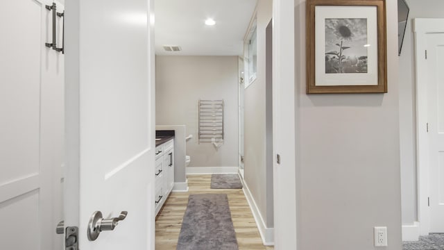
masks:
<path id="1" fill-rule="evenodd" d="M 191 194 L 177 250 L 237 250 L 227 194 Z"/>

